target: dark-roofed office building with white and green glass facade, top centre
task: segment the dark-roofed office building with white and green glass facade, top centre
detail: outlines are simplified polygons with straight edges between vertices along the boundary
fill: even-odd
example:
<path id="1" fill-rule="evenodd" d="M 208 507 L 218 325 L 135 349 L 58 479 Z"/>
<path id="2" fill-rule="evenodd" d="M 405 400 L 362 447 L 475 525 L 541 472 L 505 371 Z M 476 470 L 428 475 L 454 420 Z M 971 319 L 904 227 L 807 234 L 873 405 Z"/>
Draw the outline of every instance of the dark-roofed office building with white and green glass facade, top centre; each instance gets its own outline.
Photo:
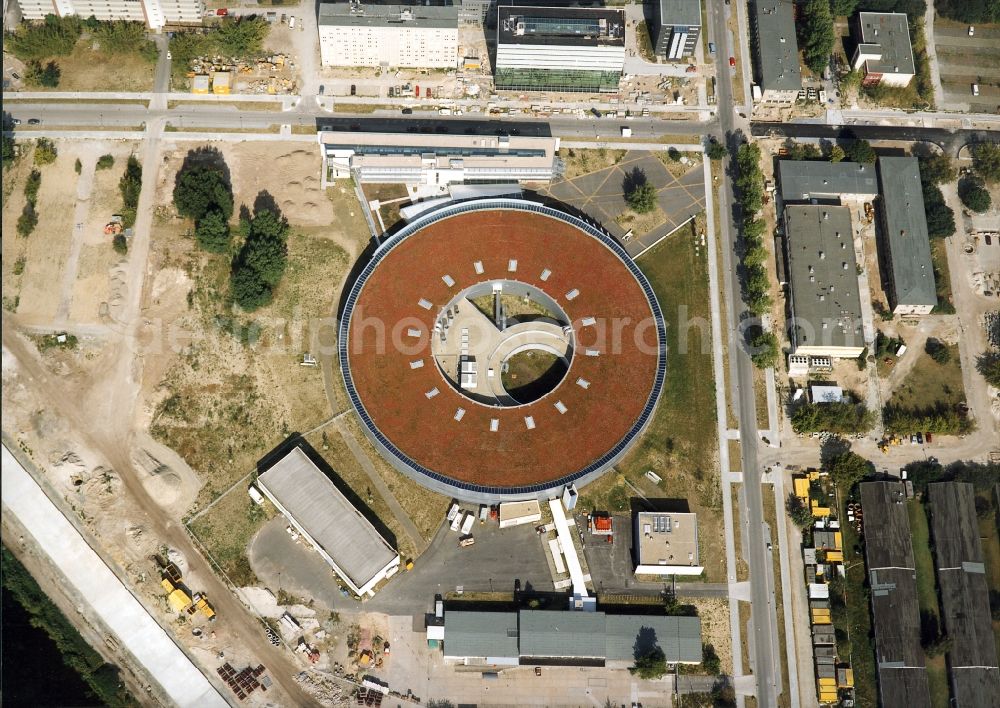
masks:
<path id="1" fill-rule="evenodd" d="M 625 66 L 625 11 L 497 7 L 498 90 L 615 92 Z"/>

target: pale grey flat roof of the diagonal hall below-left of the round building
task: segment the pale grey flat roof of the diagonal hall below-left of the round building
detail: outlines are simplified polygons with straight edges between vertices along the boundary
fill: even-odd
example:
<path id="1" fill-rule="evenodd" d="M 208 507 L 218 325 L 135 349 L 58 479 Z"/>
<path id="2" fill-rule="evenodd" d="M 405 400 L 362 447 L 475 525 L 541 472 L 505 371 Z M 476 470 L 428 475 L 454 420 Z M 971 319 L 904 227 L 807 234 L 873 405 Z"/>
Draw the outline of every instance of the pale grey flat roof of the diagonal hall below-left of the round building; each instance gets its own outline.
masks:
<path id="1" fill-rule="evenodd" d="M 382 538 L 336 485 L 300 447 L 257 478 L 307 534 L 363 587 L 396 557 Z"/>

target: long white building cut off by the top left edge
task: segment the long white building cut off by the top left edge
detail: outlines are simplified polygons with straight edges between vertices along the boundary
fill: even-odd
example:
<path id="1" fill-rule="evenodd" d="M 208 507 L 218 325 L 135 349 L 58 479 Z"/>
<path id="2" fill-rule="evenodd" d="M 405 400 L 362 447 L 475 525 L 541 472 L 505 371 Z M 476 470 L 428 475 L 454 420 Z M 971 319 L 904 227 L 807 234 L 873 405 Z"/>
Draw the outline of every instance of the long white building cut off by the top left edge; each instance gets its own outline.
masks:
<path id="1" fill-rule="evenodd" d="M 67 17 L 93 15 L 98 20 L 144 22 L 150 29 L 166 25 L 201 24 L 205 12 L 202 0 L 17 0 L 25 20 L 41 20 L 46 15 Z"/>

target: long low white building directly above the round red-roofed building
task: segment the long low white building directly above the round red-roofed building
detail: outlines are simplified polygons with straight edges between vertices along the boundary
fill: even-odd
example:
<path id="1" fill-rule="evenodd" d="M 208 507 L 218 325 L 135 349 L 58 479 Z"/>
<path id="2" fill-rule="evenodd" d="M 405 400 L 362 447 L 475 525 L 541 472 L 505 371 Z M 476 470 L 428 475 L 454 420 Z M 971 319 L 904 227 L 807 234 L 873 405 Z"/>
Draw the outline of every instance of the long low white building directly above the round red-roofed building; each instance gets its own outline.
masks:
<path id="1" fill-rule="evenodd" d="M 547 182 L 558 138 L 507 135 L 321 132 L 323 187 L 356 175 L 363 183 L 411 185 Z"/>

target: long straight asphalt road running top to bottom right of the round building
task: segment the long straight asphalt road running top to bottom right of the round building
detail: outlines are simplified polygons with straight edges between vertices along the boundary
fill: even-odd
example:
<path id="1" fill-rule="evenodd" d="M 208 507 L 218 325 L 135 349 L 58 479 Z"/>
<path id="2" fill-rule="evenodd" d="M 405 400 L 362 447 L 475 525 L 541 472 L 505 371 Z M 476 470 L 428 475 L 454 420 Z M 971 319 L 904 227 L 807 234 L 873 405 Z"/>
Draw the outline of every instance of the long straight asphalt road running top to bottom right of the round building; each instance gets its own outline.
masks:
<path id="1" fill-rule="evenodd" d="M 724 41 L 728 56 L 736 56 L 732 35 L 726 26 L 726 13 L 712 14 L 713 31 L 716 42 Z M 719 191 L 720 238 L 723 244 L 723 270 L 727 273 L 729 288 L 725 292 L 726 314 L 729 328 L 730 386 L 733 405 L 740 421 L 743 481 L 745 494 L 741 495 L 744 506 L 740 509 L 740 530 L 746 539 L 748 553 L 746 561 L 750 567 L 751 618 L 753 636 L 748 637 L 751 646 L 750 662 L 756 678 L 757 705 L 772 706 L 780 693 L 781 668 L 776 641 L 777 623 L 774 617 L 773 566 L 766 552 L 767 538 L 764 529 L 764 509 L 760 485 L 760 469 L 757 463 L 757 413 L 754 402 L 753 370 L 750 357 L 743 347 L 739 333 L 739 315 L 746 307 L 743 304 L 740 281 L 735 277 L 735 263 L 739 228 L 733 208 L 735 195 L 735 160 L 733 155 L 743 136 L 749 131 L 749 124 L 738 121 L 737 107 L 733 99 L 730 76 L 723 75 L 717 82 L 718 116 L 720 139 L 726 141 L 730 157 L 724 161 L 725 177 Z M 724 470 L 725 472 L 726 470 Z M 797 698 L 797 696 L 795 697 Z"/>

